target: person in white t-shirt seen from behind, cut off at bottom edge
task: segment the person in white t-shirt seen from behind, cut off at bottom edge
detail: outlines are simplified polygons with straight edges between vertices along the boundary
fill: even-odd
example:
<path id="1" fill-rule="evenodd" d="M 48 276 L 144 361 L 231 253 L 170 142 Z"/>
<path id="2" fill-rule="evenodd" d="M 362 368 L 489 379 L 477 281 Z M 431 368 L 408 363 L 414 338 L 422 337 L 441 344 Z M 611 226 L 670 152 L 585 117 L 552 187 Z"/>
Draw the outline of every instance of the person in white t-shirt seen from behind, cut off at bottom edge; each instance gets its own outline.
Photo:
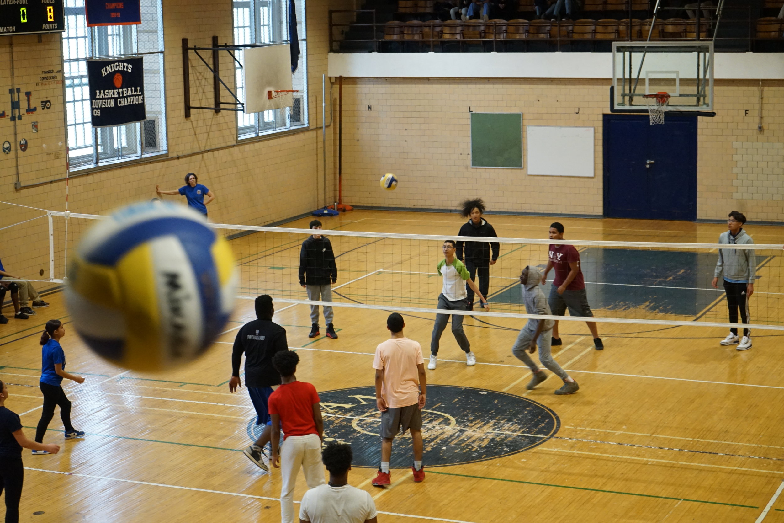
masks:
<path id="1" fill-rule="evenodd" d="M 329 470 L 329 482 L 302 496 L 299 523 L 376 523 L 376 503 L 368 492 L 348 484 L 351 445 L 330 441 L 321 449 L 321 461 Z"/>

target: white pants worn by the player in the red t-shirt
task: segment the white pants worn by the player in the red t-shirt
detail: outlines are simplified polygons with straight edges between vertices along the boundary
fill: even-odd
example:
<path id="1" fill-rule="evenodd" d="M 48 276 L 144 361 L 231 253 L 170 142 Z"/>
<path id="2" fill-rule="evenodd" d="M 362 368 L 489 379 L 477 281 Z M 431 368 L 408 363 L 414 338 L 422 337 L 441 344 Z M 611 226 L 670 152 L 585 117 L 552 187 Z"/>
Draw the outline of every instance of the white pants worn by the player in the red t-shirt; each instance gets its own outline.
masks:
<path id="1" fill-rule="evenodd" d="M 307 488 L 324 485 L 321 438 L 318 434 L 289 436 L 281 445 L 281 523 L 294 523 L 295 514 L 299 514 L 294 512 L 294 485 L 299 467 L 305 473 Z"/>

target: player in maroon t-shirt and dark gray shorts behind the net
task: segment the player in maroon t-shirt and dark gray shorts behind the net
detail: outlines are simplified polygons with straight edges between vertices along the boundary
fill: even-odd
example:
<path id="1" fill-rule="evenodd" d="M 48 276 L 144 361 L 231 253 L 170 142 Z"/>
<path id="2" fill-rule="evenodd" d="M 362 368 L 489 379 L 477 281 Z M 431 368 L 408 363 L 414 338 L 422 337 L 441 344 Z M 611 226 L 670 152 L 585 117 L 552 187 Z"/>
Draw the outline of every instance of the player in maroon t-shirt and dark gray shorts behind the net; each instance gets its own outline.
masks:
<path id="1" fill-rule="evenodd" d="M 550 239 L 563 240 L 564 226 L 555 222 L 550 225 Z M 553 286 L 550 287 L 550 310 L 554 316 L 563 316 L 566 309 L 569 309 L 570 316 L 586 316 L 593 318 L 593 312 L 588 304 L 586 294 L 586 282 L 583 278 L 583 271 L 580 269 L 580 253 L 574 245 L 550 245 L 547 256 L 547 267 L 542 274 L 542 285 L 545 284 L 547 273 L 550 269 L 555 269 Z M 586 321 L 591 335 L 593 335 L 593 346 L 596 350 L 604 350 L 604 343 L 601 343 L 599 331 L 596 328 L 596 321 Z M 553 345 L 561 345 L 561 337 L 558 336 L 558 322 L 553 327 Z"/>

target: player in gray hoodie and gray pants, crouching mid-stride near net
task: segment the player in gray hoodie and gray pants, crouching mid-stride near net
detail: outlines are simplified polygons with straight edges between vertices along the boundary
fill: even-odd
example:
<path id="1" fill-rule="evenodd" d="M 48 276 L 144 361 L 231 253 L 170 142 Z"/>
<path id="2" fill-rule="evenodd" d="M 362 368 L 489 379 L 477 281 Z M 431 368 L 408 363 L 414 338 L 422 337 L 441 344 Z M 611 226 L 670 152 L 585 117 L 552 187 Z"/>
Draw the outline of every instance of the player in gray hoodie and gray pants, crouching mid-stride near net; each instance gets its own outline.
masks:
<path id="1" fill-rule="evenodd" d="M 530 265 L 525 267 L 520 274 L 525 312 L 550 316 L 552 315 L 550 306 L 547 305 L 544 292 L 539 288 L 539 280 L 541 279 L 542 273 L 539 272 L 539 269 Z M 514 342 L 514 347 L 512 347 L 512 354 L 525 365 L 528 365 L 528 368 L 533 372 L 531 381 L 525 386 L 528 390 L 533 390 L 539 383 L 547 379 L 546 372 L 539 369 L 539 366 L 526 354 L 526 351 L 533 354 L 536 346 L 539 345 L 539 361 L 547 369 L 553 371 L 561 380 L 564 380 L 564 386 L 556 390 L 555 394 L 574 394 L 579 390 L 579 385 L 569 377 L 564 369 L 561 369 L 561 365 L 558 365 L 550 354 L 550 336 L 553 333 L 553 325 L 554 320 L 528 320 L 528 323 L 521 329 L 520 334 L 517 335 L 517 340 Z"/>

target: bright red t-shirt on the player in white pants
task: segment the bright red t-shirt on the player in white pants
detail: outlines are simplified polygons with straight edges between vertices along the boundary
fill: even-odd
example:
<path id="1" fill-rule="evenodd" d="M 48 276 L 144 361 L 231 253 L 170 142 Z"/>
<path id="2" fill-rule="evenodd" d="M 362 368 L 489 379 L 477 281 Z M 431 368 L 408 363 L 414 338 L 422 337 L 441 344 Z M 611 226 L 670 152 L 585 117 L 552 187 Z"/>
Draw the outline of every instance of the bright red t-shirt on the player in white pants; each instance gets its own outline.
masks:
<path id="1" fill-rule="evenodd" d="M 316 387 L 305 381 L 293 381 L 278 387 L 267 400 L 267 411 L 281 417 L 283 439 L 289 436 L 318 434 L 313 419 L 313 405 L 321 401 Z"/>

